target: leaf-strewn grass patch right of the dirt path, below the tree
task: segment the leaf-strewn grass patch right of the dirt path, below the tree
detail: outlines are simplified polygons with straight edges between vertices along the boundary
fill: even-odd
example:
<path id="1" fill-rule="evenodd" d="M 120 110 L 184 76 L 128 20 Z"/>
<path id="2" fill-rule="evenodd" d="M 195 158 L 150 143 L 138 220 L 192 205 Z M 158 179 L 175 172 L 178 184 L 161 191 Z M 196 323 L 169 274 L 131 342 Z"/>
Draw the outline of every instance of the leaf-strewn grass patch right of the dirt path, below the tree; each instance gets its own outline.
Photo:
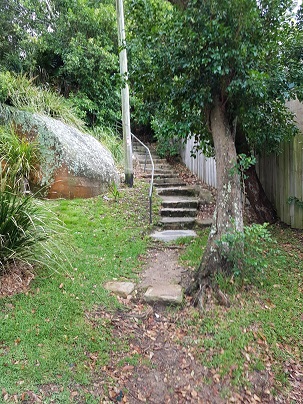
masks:
<path id="1" fill-rule="evenodd" d="M 264 370 L 270 366 L 272 393 L 281 394 L 289 387 L 287 363 L 301 363 L 302 233 L 279 225 L 270 231 L 279 250 L 272 241 L 260 240 L 266 252 L 265 272 L 255 271 L 242 282 L 236 277 L 219 279 L 221 290 L 229 293 L 230 308 L 210 303 L 203 316 L 196 311 L 182 314 L 182 329 L 191 337 L 186 338 L 186 347 L 190 345 L 200 362 L 212 374 L 216 372 L 222 384 L 226 381 L 230 390 L 233 385 L 251 390 L 249 375 L 266 377 Z M 189 260 L 192 245 L 187 247 Z M 197 267 L 200 261 L 201 254 L 190 262 Z"/>

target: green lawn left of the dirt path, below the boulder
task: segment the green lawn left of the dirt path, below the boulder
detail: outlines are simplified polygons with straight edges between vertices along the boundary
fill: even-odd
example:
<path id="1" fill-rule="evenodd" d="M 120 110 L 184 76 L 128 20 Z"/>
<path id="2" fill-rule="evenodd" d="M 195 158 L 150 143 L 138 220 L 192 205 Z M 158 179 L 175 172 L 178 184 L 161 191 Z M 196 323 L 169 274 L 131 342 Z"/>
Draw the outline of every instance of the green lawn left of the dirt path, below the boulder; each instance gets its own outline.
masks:
<path id="1" fill-rule="evenodd" d="M 119 306 L 105 281 L 137 278 L 148 244 L 147 192 L 139 184 L 122 190 L 117 202 L 45 202 L 65 224 L 57 237 L 70 262 L 38 270 L 28 293 L 0 299 L 0 387 L 9 395 L 59 382 L 57 399 L 65 402 L 64 387 L 89 382 L 93 352 L 101 367 L 119 349 L 110 326 L 91 326 L 85 313 L 94 305 L 109 312 Z"/>

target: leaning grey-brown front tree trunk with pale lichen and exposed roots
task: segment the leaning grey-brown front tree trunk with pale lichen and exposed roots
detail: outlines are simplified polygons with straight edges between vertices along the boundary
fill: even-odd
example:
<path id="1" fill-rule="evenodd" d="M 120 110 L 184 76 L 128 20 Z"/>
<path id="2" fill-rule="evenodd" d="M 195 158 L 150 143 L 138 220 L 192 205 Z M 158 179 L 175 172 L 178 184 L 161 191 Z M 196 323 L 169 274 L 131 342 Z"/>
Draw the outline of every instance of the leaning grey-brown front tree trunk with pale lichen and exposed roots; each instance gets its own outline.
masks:
<path id="1" fill-rule="evenodd" d="M 217 244 L 224 234 L 243 231 L 242 191 L 238 171 L 235 169 L 237 153 L 234 137 L 219 99 L 210 113 L 211 131 L 217 166 L 217 202 L 213 224 L 201 264 L 188 292 L 198 289 L 197 301 L 206 286 L 215 286 L 214 275 L 229 272 L 231 263 L 224 258 Z M 228 245 L 224 245 L 227 252 Z M 201 303 L 201 302 L 200 302 Z"/>

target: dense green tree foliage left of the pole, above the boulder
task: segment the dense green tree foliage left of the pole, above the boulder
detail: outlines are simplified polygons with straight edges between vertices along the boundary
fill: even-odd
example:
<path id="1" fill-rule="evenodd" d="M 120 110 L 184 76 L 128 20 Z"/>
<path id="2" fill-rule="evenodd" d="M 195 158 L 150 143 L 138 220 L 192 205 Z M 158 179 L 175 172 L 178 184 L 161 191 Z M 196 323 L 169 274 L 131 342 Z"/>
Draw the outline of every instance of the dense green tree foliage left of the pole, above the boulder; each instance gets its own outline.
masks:
<path id="1" fill-rule="evenodd" d="M 120 118 L 116 12 L 110 0 L 0 4 L 0 66 L 74 99 L 89 125 Z M 21 55 L 21 57 L 20 57 Z"/>

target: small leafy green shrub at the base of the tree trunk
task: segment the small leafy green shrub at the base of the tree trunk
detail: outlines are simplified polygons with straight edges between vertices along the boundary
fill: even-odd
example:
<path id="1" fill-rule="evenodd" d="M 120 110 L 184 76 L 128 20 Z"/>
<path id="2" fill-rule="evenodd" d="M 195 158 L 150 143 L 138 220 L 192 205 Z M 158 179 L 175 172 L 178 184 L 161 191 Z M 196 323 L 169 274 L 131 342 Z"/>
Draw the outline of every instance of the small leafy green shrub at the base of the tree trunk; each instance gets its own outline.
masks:
<path id="1" fill-rule="evenodd" d="M 252 278 L 267 267 L 263 246 L 272 242 L 267 223 L 244 226 L 244 231 L 232 231 L 217 241 L 220 253 L 232 264 L 235 276 Z"/>

